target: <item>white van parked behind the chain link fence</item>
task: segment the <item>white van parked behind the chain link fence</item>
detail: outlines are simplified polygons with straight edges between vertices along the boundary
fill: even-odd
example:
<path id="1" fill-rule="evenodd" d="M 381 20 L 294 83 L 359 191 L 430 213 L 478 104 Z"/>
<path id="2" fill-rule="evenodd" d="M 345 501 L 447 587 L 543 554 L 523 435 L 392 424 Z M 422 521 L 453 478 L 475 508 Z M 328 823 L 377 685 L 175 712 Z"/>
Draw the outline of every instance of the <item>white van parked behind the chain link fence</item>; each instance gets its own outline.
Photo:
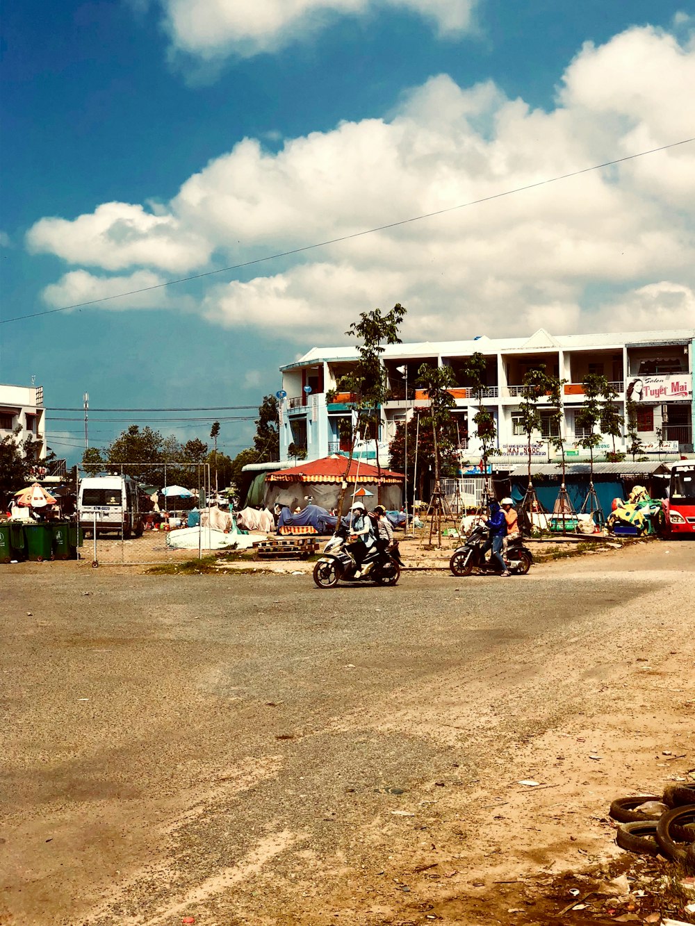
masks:
<path id="1" fill-rule="evenodd" d="M 80 482 L 77 510 L 84 531 L 123 532 L 124 537 L 143 532 L 137 499 L 137 483 L 130 476 L 85 476 Z"/>

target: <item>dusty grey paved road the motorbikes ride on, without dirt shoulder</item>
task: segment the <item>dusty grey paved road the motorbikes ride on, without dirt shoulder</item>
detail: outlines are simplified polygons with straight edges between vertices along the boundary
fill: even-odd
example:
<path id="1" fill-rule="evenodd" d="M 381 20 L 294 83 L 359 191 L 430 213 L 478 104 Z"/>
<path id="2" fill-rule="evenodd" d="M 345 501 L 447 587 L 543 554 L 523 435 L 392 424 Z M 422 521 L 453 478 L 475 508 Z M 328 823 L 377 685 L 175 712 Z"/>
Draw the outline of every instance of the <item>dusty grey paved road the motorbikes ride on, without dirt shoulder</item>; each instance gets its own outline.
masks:
<path id="1" fill-rule="evenodd" d="M 325 885 L 355 896 L 429 838 L 385 789 L 426 804 L 446 779 L 465 803 L 493 739 L 586 709 L 636 615 L 673 621 L 674 591 L 695 612 L 694 560 L 644 544 L 331 591 L 0 567 L 0 922 L 336 921 Z"/>

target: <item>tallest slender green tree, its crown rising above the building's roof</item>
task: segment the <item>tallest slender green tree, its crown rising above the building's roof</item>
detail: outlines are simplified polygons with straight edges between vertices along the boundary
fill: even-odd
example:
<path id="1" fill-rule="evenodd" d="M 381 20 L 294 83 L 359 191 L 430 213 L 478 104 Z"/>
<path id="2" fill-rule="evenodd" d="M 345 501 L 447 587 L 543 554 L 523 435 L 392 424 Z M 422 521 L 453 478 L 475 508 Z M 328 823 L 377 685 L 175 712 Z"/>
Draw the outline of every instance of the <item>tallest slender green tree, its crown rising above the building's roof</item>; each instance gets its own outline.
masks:
<path id="1" fill-rule="evenodd" d="M 357 363 L 354 364 L 350 372 L 341 382 L 343 388 L 353 394 L 352 407 L 357 412 L 345 471 L 347 476 L 354 453 L 355 437 L 357 432 L 362 430 L 362 419 L 366 420 L 367 425 L 370 423 L 369 419 L 373 419 L 372 423 L 375 432 L 376 446 L 376 469 L 378 471 L 377 501 L 380 501 L 379 494 L 381 489 L 379 422 L 381 418 L 381 407 L 388 394 L 385 369 L 381 357 L 384 353 L 385 344 L 400 344 L 398 329 L 405 318 L 405 314 L 406 309 L 402 307 L 399 302 L 397 302 L 390 311 L 385 313 L 382 313 L 380 308 L 374 308 L 370 312 L 360 312 L 360 320 L 353 321 L 346 332 L 349 337 L 359 338 L 362 343 L 358 347 Z M 343 482 L 346 482 L 346 480 Z M 347 488 L 341 488 L 340 490 L 338 511 L 342 511 L 346 491 Z"/>

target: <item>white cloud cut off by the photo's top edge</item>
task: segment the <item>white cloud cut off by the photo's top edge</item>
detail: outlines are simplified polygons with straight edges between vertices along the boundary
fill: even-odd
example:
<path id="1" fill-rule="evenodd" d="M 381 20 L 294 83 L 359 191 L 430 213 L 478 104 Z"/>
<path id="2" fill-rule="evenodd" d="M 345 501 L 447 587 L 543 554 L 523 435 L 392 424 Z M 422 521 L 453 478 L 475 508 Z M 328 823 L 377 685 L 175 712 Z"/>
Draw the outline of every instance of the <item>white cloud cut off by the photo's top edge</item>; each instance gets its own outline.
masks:
<path id="1" fill-rule="evenodd" d="M 173 47 L 204 60 L 276 51 L 333 19 L 401 7 L 433 23 L 440 35 L 472 29 L 477 0 L 160 0 Z"/>

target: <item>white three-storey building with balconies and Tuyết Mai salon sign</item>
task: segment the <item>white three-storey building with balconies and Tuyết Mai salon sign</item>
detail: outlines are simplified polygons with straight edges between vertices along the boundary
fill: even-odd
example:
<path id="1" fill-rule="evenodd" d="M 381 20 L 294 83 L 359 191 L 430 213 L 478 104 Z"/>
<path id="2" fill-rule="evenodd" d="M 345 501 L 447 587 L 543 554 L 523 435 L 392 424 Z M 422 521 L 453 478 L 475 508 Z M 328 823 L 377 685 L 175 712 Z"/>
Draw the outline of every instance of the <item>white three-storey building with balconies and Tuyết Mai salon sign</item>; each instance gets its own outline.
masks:
<path id="1" fill-rule="evenodd" d="M 452 414 L 458 423 L 461 451 L 464 458 L 479 459 L 481 448 L 474 438 L 473 422 L 479 405 L 464 373 L 474 353 L 486 358 L 480 404 L 496 420 L 499 462 L 526 457 L 526 438 L 519 421 L 522 382 L 527 370 L 541 365 L 567 381 L 560 427 L 569 457 L 585 457 L 578 446 L 583 435 L 577 414 L 585 403 L 582 381 L 588 373 L 603 375 L 612 383 L 621 415 L 625 416 L 626 401 L 637 403 L 640 453 L 692 453 L 694 343 L 695 328 L 571 335 L 552 335 L 541 329 L 527 338 L 479 337 L 472 341 L 386 345 L 382 357 L 392 398 L 380 409 L 379 456 L 385 459 L 387 444 L 398 423 L 410 419 L 416 408 L 427 406 L 416 381 L 418 369 L 428 363 L 452 369 L 458 385 L 451 391 L 456 400 Z M 335 389 L 357 358 L 355 346 L 315 347 L 296 363 L 281 368 L 285 393 L 280 402 L 282 459 L 291 456 L 291 444 L 305 448 L 308 459 L 348 449 L 347 434 L 354 412 L 349 395 L 336 395 Z M 328 403 L 326 393 L 331 399 Z M 543 423 L 535 438 L 535 454 L 548 459 L 554 454 L 549 438 L 556 425 L 550 409 L 543 414 L 542 402 L 539 410 Z M 616 450 L 625 448 L 625 438 L 619 438 Z M 373 448 L 363 449 L 360 456 L 373 456 Z M 598 448 L 597 456 L 608 450 L 613 450 L 613 439 Z"/>

